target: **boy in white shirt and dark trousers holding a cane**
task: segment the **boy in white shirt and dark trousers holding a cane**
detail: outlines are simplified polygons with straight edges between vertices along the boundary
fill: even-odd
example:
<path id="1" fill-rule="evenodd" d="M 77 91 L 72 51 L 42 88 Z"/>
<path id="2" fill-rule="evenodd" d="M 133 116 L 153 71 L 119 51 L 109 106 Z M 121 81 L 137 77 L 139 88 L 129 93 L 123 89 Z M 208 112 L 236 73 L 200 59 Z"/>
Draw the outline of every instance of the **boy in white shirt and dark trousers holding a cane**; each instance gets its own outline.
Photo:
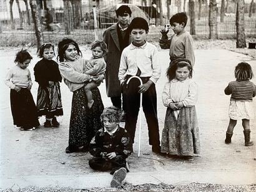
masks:
<path id="1" fill-rule="evenodd" d="M 139 113 L 140 93 L 142 93 L 142 107 L 149 129 L 149 145 L 152 151 L 160 153 L 159 123 L 157 119 L 157 95 L 155 83 L 160 77 L 160 65 L 157 60 L 157 48 L 145 39 L 149 32 L 149 24 L 141 17 L 135 17 L 128 27 L 132 43 L 126 47 L 121 55 L 119 80 L 126 105 L 126 130 L 134 143 L 135 128 Z M 132 76 L 129 85 L 127 80 Z"/>

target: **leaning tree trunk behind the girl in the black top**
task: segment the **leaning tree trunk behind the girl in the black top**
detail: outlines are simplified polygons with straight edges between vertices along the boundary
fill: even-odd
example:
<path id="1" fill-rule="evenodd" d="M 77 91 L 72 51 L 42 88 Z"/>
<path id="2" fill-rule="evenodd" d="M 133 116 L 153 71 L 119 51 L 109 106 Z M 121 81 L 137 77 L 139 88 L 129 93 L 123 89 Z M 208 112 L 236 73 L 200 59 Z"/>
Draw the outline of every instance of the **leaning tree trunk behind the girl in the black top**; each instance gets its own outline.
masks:
<path id="1" fill-rule="evenodd" d="M 42 42 L 44 42 L 41 24 L 40 24 L 40 15 L 39 15 L 39 1 L 37 0 L 29 0 L 29 5 L 31 7 L 31 13 L 32 13 L 32 19 L 34 21 L 34 30 L 36 33 L 36 39 L 37 39 L 37 51 L 39 50 L 39 47 L 42 45 Z"/>

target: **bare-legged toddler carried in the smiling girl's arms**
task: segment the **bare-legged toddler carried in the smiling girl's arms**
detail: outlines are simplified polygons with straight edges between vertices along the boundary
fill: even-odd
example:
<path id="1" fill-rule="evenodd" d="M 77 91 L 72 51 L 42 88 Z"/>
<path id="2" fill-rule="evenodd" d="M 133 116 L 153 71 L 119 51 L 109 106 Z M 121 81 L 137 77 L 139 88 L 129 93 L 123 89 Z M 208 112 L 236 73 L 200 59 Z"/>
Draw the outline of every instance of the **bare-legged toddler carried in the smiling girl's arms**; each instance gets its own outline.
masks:
<path id="1" fill-rule="evenodd" d="M 86 69 L 84 70 L 85 74 L 88 75 L 102 75 L 106 71 L 106 62 L 103 58 L 107 54 L 107 45 L 104 41 L 94 41 L 91 45 L 92 58 L 87 62 Z M 84 90 L 86 91 L 86 97 L 88 100 L 87 107 L 91 108 L 94 100 L 92 98 L 91 89 L 99 87 L 101 82 L 95 82 L 91 80 L 86 85 L 84 85 Z"/>

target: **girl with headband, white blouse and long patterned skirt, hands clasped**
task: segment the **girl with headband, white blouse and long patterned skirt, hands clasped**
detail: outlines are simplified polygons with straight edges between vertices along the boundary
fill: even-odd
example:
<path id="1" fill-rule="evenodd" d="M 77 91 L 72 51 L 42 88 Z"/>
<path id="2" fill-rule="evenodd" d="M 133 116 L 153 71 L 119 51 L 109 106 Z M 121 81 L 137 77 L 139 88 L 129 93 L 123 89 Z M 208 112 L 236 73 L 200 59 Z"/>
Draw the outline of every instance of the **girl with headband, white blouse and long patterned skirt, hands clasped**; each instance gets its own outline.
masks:
<path id="1" fill-rule="evenodd" d="M 192 66 L 184 58 L 175 59 L 167 69 L 162 101 L 167 107 L 162 130 L 161 152 L 193 160 L 200 152 L 195 102 L 198 87 L 192 80 Z"/>

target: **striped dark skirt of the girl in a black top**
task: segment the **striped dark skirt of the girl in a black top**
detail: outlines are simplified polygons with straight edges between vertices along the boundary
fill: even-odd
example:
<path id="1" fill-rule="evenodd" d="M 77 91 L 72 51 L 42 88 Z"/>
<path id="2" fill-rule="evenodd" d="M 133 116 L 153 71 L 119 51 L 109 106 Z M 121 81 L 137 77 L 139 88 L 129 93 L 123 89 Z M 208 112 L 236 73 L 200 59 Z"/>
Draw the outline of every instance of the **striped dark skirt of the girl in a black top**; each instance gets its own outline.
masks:
<path id="1" fill-rule="evenodd" d="M 37 91 L 37 110 L 38 117 L 46 115 L 46 118 L 52 118 L 63 115 L 59 82 L 54 82 L 52 87 L 43 88 L 39 85 Z"/>

